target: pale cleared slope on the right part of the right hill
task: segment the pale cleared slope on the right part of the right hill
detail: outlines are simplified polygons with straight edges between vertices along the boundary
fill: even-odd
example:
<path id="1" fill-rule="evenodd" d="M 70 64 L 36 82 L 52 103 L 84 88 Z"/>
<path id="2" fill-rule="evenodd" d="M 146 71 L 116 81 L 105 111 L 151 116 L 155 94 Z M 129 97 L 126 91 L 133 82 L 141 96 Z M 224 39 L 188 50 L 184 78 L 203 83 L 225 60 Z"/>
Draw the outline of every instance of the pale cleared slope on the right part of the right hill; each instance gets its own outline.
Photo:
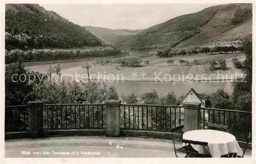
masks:
<path id="1" fill-rule="evenodd" d="M 209 22 L 202 28 L 201 33 L 180 43 L 176 48 L 188 46 L 214 46 L 214 45 L 238 45 L 252 33 L 252 19 L 243 22 L 238 26 L 228 24 L 238 9 L 251 8 L 249 4 L 232 4 L 222 6 Z"/>

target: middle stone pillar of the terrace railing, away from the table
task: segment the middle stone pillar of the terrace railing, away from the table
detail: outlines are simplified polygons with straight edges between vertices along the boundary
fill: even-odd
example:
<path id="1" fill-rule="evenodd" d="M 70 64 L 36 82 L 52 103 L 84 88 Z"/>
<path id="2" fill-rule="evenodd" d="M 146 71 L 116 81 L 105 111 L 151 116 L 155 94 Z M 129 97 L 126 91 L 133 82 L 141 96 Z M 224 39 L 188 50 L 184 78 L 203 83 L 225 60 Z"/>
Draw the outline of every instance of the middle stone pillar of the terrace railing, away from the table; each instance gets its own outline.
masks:
<path id="1" fill-rule="evenodd" d="M 120 103 L 121 100 L 105 102 L 106 136 L 119 136 L 120 134 Z"/>

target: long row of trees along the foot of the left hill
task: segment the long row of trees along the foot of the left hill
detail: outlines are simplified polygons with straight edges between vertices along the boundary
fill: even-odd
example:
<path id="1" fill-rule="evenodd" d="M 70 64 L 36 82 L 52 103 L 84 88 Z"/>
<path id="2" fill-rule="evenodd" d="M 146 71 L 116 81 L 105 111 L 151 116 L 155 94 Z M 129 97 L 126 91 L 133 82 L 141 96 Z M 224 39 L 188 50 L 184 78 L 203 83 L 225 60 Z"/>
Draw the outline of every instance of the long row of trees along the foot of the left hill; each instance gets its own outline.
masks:
<path id="1" fill-rule="evenodd" d="M 55 60 L 55 59 L 72 59 L 72 58 L 89 58 L 100 56 L 113 56 L 121 54 L 119 49 L 110 46 L 93 50 L 49 50 L 49 49 L 33 49 L 32 51 L 23 51 L 19 49 L 7 51 L 5 50 L 5 62 L 7 64 L 17 62 L 19 58 L 25 61 L 35 60 Z"/>

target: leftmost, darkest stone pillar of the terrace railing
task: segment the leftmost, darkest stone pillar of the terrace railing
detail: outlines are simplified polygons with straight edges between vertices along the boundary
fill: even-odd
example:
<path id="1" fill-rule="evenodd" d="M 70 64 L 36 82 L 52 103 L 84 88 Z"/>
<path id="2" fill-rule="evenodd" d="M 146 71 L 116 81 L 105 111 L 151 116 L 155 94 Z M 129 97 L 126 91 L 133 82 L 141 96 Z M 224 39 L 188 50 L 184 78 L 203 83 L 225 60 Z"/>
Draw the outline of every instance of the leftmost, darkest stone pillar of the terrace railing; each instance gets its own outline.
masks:
<path id="1" fill-rule="evenodd" d="M 41 101 L 30 101 L 29 106 L 29 136 L 43 137 L 44 127 L 42 122 L 42 106 Z"/>

